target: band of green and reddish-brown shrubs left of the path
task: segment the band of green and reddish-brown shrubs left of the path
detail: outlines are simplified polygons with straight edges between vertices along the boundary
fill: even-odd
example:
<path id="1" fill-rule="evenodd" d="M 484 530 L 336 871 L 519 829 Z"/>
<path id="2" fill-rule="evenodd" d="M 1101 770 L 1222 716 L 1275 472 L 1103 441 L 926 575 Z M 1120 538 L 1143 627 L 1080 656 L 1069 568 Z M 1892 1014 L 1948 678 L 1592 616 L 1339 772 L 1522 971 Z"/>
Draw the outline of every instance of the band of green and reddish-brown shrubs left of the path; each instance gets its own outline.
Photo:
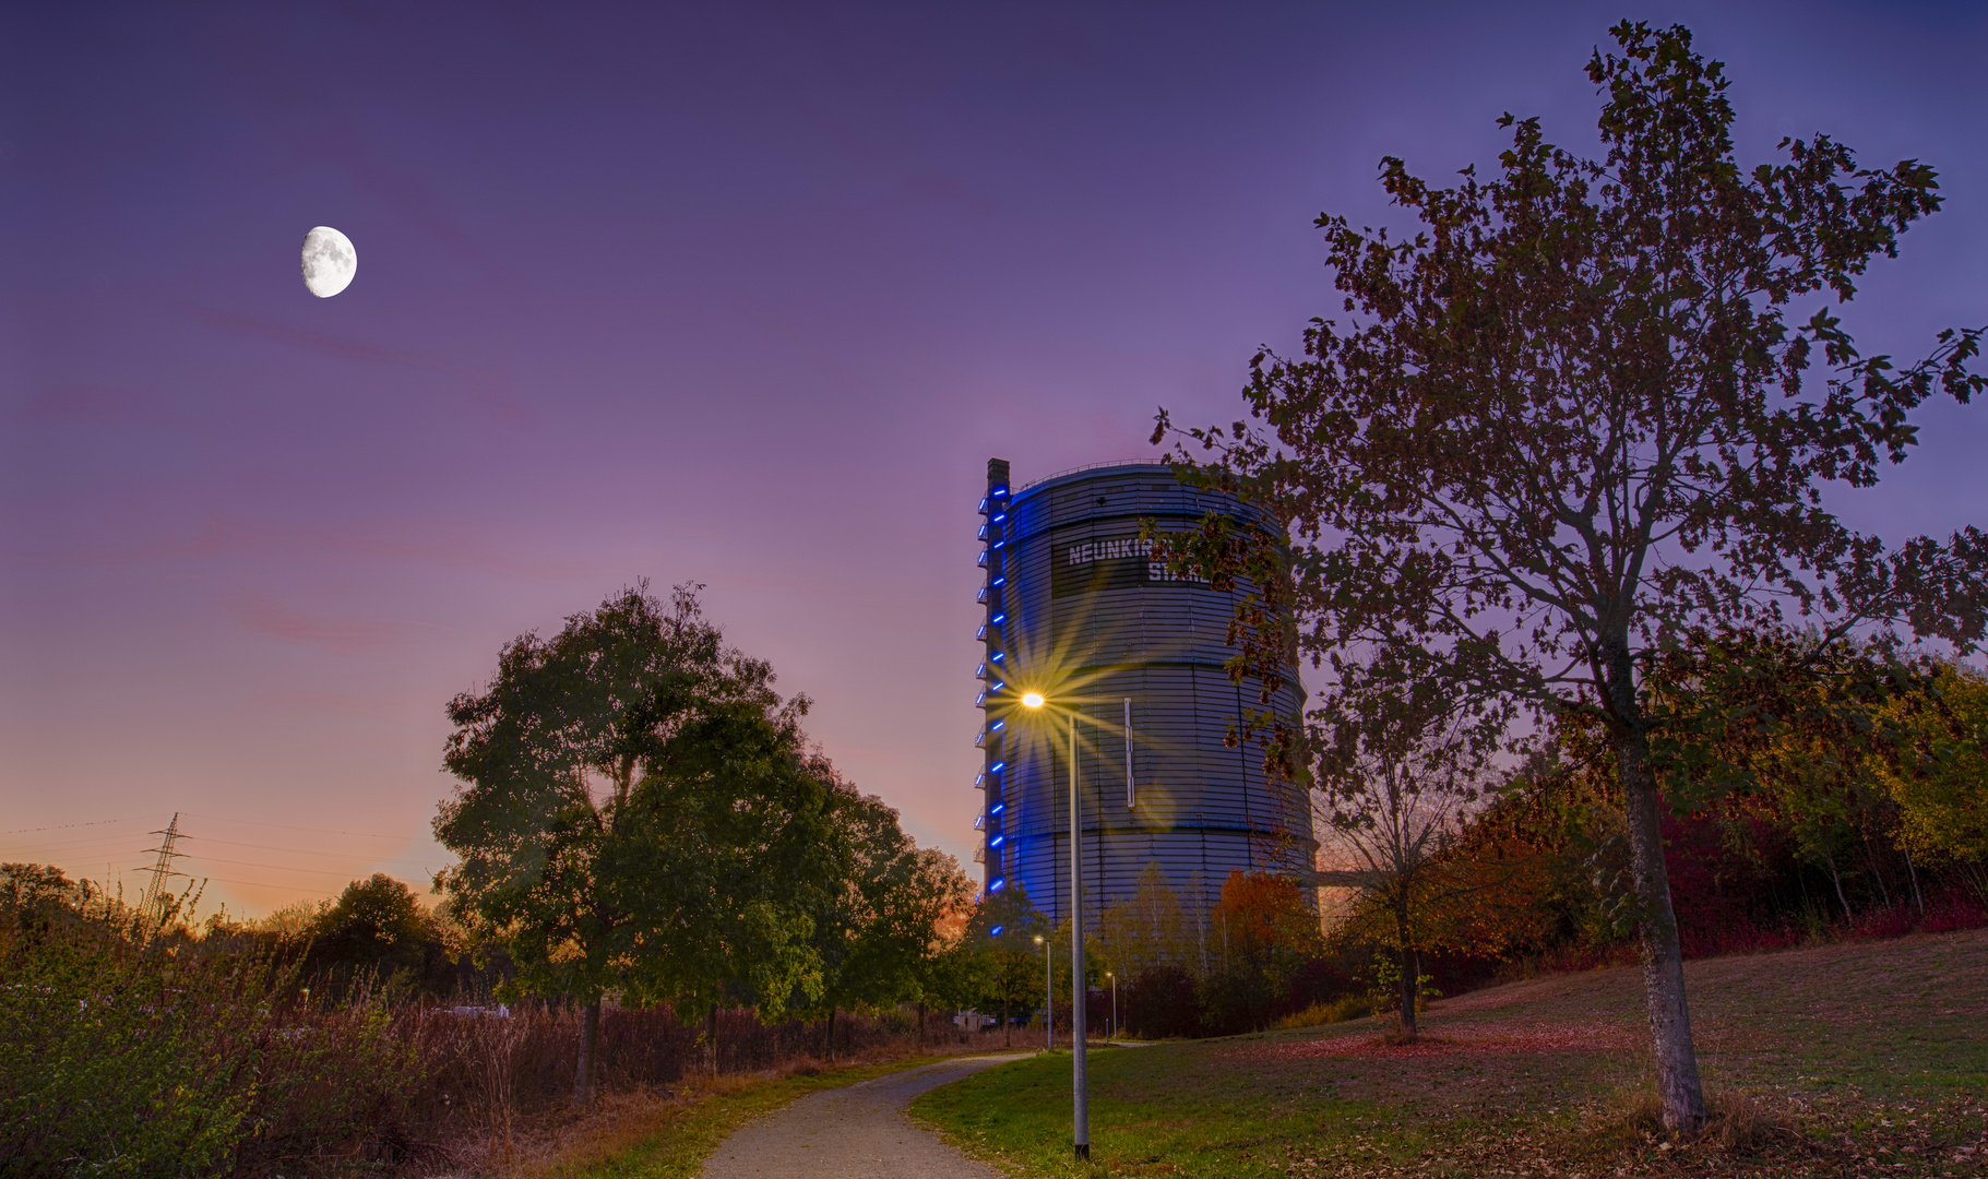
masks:
<path id="1" fill-rule="evenodd" d="M 503 1157 L 565 1111 L 580 1018 L 437 1008 L 358 988 L 310 1004 L 294 970 L 87 928 L 0 938 L 0 1175 L 330 1175 Z M 970 1036 L 932 1016 L 841 1016 L 837 1060 Z M 716 1054 L 670 1010 L 604 1012 L 604 1092 L 809 1066 L 825 1022 L 720 1012 Z M 928 1048 L 930 1050 L 930 1048 Z M 716 1056 L 716 1060 L 714 1060 Z"/>

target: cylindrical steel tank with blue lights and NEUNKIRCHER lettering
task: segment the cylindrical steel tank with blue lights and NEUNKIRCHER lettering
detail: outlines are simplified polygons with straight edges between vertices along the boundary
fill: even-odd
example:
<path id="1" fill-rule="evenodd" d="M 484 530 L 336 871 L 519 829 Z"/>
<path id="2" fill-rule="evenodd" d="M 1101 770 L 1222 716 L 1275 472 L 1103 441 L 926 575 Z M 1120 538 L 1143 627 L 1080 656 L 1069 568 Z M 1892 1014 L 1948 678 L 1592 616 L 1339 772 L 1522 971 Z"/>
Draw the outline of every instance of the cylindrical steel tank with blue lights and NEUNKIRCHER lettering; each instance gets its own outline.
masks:
<path id="1" fill-rule="evenodd" d="M 1229 744 L 1241 714 L 1264 708 L 1254 682 L 1223 668 L 1248 587 L 1169 577 L 1139 539 L 1141 521 L 1185 531 L 1209 511 L 1264 527 L 1235 497 L 1183 487 L 1165 463 L 1020 489 L 1006 461 L 988 463 L 978 859 L 986 889 L 1022 885 L 1052 921 L 1070 899 L 1072 716 L 1087 915 L 1133 897 L 1147 865 L 1189 905 L 1211 905 L 1235 869 L 1312 867 L 1304 793 L 1266 781 L 1254 746 Z M 1024 708 L 1026 692 L 1044 706 Z M 1298 692 L 1292 674 L 1268 708 L 1294 716 Z"/>

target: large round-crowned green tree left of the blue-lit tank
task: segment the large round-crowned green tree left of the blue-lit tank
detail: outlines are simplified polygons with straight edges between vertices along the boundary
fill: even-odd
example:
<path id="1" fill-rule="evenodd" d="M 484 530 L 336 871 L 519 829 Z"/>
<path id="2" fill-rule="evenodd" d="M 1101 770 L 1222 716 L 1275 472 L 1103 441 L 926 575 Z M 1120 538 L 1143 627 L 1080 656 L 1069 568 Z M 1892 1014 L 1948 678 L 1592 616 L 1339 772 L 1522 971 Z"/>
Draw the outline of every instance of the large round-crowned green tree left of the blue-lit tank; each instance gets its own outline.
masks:
<path id="1" fill-rule="evenodd" d="M 485 690 L 449 702 L 461 785 L 435 837 L 459 863 L 437 885 L 505 944 L 517 992 L 584 1008 L 577 1103 L 608 990 L 710 1010 L 726 978 L 775 1006 L 809 988 L 811 923 L 785 895 L 821 833 L 805 708 L 726 646 L 694 587 L 664 610 L 646 585 L 513 640 Z"/>

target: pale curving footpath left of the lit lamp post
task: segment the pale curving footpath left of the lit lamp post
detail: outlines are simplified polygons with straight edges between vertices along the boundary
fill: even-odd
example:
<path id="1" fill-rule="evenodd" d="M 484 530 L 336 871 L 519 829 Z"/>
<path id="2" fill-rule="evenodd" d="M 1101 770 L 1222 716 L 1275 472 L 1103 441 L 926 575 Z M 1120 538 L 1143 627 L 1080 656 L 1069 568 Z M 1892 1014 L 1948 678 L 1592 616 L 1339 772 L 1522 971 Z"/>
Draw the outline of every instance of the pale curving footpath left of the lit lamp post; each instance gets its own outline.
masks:
<path id="1" fill-rule="evenodd" d="M 704 1179 L 998 1179 L 905 1117 L 926 1090 L 1026 1054 L 962 1056 L 809 1094 L 740 1127 L 704 1163 Z"/>

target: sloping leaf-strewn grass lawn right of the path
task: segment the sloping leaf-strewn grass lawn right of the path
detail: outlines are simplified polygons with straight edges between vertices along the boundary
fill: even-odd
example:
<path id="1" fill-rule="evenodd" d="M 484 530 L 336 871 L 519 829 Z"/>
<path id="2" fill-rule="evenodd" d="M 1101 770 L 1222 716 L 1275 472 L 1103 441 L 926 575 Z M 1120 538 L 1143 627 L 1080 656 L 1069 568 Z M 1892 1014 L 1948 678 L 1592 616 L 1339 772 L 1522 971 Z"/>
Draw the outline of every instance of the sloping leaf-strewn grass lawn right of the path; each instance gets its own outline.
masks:
<path id="1" fill-rule="evenodd" d="M 1686 964 L 1714 1133 L 1646 1097 L 1636 968 L 1557 974 L 1376 1020 L 1070 1054 L 932 1090 L 912 1113 L 1012 1175 L 1988 1175 L 1988 930 Z"/>

